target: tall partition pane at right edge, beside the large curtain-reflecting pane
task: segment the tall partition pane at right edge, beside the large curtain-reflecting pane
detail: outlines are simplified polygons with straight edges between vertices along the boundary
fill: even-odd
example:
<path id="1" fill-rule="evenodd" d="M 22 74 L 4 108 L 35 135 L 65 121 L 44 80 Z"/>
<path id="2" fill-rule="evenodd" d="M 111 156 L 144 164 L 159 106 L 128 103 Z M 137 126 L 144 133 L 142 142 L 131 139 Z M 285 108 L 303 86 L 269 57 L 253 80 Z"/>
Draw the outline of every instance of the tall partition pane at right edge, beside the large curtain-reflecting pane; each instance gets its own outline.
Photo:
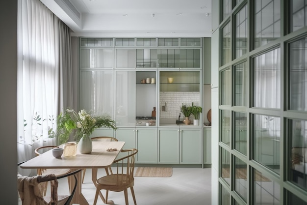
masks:
<path id="1" fill-rule="evenodd" d="M 290 109 L 307 111 L 307 38 L 290 44 Z"/>

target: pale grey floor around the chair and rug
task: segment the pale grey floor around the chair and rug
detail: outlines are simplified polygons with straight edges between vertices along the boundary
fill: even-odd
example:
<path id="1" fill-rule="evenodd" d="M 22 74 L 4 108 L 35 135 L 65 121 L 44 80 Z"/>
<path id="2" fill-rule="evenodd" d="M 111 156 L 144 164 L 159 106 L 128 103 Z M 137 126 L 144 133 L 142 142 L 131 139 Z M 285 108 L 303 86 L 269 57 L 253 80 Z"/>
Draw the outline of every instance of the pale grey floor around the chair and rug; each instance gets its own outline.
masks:
<path id="1" fill-rule="evenodd" d="M 103 170 L 99 170 L 98 176 L 100 174 L 105 175 Z M 173 168 L 171 177 L 135 177 L 134 180 L 138 205 L 211 205 L 211 168 Z M 88 169 L 82 193 L 90 205 L 94 202 L 95 191 Z M 105 195 L 105 191 L 102 193 Z M 130 190 L 128 198 L 129 205 L 133 205 Z M 109 192 L 109 200 L 115 205 L 125 205 L 124 192 Z M 100 198 L 97 205 L 104 205 Z"/>

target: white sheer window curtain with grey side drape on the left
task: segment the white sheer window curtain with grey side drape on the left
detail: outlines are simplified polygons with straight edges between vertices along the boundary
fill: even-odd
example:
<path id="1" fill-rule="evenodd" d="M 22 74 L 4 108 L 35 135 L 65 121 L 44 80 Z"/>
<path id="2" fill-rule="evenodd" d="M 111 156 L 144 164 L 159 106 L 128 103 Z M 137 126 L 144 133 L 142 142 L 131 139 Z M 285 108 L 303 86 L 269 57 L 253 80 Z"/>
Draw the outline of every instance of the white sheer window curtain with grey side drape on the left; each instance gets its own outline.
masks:
<path id="1" fill-rule="evenodd" d="M 70 29 L 41 1 L 18 0 L 18 160 L 56 145 L 56 117 L 72 102 Z"/>

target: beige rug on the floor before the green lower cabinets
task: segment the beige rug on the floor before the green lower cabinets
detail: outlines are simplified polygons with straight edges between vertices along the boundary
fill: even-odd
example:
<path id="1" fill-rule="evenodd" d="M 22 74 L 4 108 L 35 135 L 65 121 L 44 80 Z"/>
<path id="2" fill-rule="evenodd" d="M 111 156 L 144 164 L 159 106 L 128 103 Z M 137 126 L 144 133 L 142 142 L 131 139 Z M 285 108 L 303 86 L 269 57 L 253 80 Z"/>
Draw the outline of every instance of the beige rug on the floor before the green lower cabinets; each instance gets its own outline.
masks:
<path id="1" fill-rule="evenodd" d="M 139 177 L 170 177 L 172 175 L 171 167 L 138 167 L 134 174 Z"/>

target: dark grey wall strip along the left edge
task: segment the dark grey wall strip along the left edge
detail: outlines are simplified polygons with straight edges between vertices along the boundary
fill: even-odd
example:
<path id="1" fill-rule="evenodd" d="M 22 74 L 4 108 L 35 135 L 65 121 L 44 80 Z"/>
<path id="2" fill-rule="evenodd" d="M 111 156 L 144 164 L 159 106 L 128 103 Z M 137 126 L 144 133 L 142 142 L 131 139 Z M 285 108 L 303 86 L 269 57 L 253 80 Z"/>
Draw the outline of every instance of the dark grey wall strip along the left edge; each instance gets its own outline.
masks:
<path id="1" fill-rule="evenodd" d="M 17 205 L 17 0 L 0 1 L 0 199 Z"/>

